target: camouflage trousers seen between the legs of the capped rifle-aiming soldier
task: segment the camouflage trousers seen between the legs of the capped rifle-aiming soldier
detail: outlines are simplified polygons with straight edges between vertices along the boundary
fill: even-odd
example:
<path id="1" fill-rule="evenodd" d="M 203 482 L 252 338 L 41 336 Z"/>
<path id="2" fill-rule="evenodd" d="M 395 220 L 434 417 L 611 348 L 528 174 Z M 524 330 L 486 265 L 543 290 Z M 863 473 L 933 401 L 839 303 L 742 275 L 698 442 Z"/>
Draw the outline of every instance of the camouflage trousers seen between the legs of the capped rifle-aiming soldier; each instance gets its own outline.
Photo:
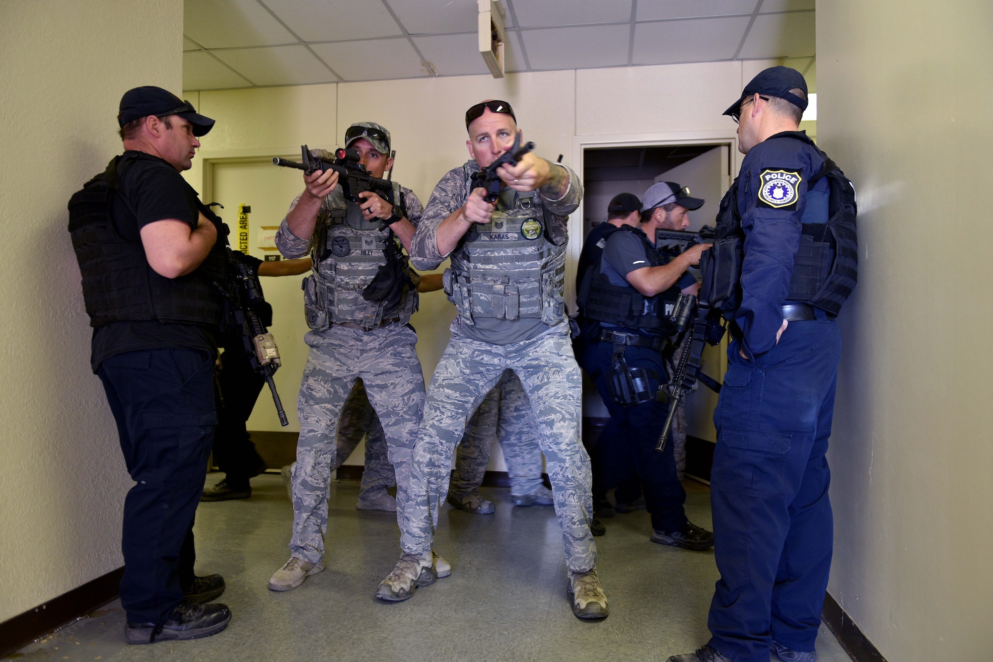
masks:
<path id="1" fill-rule="evenodd" d="M 342 420 L 338 423 L 335 469 L 340 468 L 355 452 L 362 437 L 365 437 L 365 468 L 362 470 L 359 495 L 367 494 L 371 497 L 396 485 L 396 471 L 389 461 L 386 435 L 382 431 L 379 416 L 369 404 L 365 385 L 361 380 L 355 380 L 355 387 L 342 409 Z"/>

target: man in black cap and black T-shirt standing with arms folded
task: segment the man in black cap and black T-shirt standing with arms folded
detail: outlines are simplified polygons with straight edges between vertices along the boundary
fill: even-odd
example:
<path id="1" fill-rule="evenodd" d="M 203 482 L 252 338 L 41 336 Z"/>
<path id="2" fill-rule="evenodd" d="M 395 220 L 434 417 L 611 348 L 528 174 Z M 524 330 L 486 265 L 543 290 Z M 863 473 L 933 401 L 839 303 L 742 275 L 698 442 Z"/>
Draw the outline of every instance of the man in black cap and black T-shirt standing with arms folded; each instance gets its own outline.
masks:
<path id="1" fill-rule="evenodd" d="M 93 327 L 91 365 L 117 421 L 134 487 L 124 500 L 121 605 L 129 643 L 193 639 L 231 618 L 209 604 L 219 575 L 194 575 L 193 524 L 207 476 L 224 228 L 180 172 L 213 119 L 162 89 L 128 90 L 124 153 L 69 204 Z M 222 235 L 221 235 L 222 237 Z"/>

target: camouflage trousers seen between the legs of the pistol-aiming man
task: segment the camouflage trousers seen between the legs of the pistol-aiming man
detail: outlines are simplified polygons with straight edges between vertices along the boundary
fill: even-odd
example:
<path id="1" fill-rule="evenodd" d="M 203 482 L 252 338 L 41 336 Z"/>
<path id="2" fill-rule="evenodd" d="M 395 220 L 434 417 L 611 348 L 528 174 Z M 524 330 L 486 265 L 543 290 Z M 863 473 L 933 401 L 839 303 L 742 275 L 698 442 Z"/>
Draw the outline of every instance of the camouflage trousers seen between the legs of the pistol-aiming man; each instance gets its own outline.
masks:
<path id="1" fill-rule="evenodd" d="M 497 438 L 510 477 L 510 494 L 530 494 L 541 486 L 541 446 L 538 421 L 520 379 L 507 370 L 497 386 L 469 419 L 455 455 L 449 492 L 458 498 L 483 484 L 494 438 Z"/>

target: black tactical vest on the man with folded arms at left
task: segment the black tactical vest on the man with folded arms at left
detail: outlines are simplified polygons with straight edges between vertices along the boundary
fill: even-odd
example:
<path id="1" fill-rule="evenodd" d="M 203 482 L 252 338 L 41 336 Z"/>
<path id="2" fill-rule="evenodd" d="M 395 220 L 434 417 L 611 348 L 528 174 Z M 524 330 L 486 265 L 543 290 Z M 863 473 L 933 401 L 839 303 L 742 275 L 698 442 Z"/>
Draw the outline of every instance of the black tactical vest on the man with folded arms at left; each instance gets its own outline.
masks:
<path id="1" fill-rule="evenodd" d="M 69 232 L 82 274 L 82 299 L 89 325 L 159 320 L 219 326 L 222 295 L 213 285 L 227 285 L 226 227 L 211 209 L 197 208 L 217 229 L 217 242 L 194 271 L 167 278 L 148 263 L 142 244 L 125 240 L 113 222 L 114 197 L 121 194 L 120 176 L 142 153 L 115 156 L 107 169 L 86 182 L 69 202 Z M 125 205 L 127 201 L 123 201 Z"/>

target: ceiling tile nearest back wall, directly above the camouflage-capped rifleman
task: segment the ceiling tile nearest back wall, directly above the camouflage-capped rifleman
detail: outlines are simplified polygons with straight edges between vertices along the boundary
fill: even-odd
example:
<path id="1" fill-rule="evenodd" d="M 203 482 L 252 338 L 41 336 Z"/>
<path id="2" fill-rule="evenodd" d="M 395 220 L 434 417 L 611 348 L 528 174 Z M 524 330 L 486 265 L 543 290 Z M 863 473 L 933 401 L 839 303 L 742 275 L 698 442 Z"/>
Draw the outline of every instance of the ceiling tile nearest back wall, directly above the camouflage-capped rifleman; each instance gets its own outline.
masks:
<path id="1" fill-rule="evenodd" d="M 428 76 L 406 39 L 315 44 L 312 48 L 346 81 Z"/>

